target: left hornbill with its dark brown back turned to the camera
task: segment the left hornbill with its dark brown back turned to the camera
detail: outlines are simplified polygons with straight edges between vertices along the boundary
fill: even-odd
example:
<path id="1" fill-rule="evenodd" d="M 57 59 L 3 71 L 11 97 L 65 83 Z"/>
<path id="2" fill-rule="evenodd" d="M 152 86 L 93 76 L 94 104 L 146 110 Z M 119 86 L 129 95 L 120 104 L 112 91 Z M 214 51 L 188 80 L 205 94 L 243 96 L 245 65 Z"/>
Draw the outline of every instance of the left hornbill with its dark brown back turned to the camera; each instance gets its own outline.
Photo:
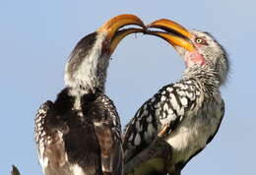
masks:
<path id="1" fill-rule="evenodd" d="M 104 94 L 109 58 L 127 34 L 144 28 L 134 15 L 120 15 L 82 38 L 66 65 L 65 84 L 54 102 L 35 116 L 35 142 L 46 175 L 120 175 L 121 126 L 113 102 Z M 118 30 L 119 29 L 119 30 Z"/>

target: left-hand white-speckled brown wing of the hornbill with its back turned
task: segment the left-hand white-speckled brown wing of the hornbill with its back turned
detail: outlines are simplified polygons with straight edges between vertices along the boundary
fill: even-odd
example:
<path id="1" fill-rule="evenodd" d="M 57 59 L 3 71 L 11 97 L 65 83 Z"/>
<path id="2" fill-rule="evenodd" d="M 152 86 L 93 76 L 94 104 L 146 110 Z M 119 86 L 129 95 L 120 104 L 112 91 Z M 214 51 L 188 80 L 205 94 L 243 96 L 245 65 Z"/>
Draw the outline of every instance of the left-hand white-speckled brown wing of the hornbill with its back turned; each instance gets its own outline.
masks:
<path id="1" fill-rule="evenodd" d="M 52 115 L 52 110 L 53 103 L 48 100 L 41 104 L 34 119 L 35 143 L 39 163 L 45 175 L 72 174 L 67 161 L 63 133 L 58 130 L 59 128 L 54 127 L 56 121 L 49 122 L 49 119 L 56 118 Z"/>

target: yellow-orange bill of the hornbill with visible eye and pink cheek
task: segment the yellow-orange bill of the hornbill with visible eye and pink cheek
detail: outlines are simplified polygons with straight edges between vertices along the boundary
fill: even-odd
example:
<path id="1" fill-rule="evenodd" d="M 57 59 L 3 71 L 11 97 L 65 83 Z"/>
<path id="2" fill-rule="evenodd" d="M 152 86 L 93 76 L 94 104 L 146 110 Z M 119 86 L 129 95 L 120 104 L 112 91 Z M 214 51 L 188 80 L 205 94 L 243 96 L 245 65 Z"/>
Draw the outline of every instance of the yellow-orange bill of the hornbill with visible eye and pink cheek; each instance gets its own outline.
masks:
<path id="1" fill-rule="evenodd" d="M 163 29 L 164 31 L 151 31 L 147 30 L 147 34 L 157 35 L 169 42 L 174 48 L 175 46 L 183 47 L 188 51 L 194 51 L 195 47 L 190 40 L 193 38 L 187 29 L 181 25 L 166 19 L 161 19 L 148 25 L 147 28 Z"/>

